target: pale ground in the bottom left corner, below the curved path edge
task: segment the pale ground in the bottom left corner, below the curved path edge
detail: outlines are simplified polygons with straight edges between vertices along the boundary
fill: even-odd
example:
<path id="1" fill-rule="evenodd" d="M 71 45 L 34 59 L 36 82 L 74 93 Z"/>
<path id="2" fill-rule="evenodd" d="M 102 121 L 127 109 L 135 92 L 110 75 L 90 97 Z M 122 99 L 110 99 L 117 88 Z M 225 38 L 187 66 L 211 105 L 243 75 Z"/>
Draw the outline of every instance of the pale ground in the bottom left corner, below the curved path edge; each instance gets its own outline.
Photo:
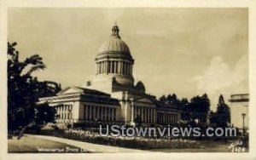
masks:
<path id="1" fill-rule="evenodd" d="M 39 151 L 38 149 L 41 149 Z M 42 149 L 44 151 L 42 151 Z M 52 140 L 43 140 L 38 138 L 27 137 L 24 135 L 20 140 L 14 138 L 8 140 L 9 153 L 20 152 L 81 152 L 80 148 L 75 146 L 69 146 L 65 143 L 59 143 Z M 83 151 L 88 152 L 88 151 Z"/>

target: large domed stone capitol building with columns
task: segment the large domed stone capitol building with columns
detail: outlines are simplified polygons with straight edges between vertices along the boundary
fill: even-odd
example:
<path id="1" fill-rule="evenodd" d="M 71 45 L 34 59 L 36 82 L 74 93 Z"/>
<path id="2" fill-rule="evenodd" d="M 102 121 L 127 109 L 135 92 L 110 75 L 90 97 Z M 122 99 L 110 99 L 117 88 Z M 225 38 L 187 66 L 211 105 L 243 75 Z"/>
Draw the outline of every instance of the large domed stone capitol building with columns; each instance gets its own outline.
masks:
<path id="1" fill-rule="evenodd" d="M 57 111 L 56 123 L 125 123 L 137 118 L 145 125 L 176 124 L 180 112 L 147 94 L 143 82 L 132 76 L 135 60 L 114 25 L 109 39 L 96 54 L 95 76 L 82 87 L 68 87 L 56 96 L 39 99 Z"/>

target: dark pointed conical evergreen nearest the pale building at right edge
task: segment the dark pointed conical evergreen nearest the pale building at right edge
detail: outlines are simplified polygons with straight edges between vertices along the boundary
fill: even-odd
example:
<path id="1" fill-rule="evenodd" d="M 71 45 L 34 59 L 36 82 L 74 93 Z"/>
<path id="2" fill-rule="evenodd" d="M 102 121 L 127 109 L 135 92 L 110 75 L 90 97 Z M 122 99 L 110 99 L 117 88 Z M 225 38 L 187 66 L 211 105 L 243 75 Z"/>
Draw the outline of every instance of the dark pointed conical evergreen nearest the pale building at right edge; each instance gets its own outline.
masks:
<path id="1" fill-rule="evenodd" d="M 226 105 L 224 102 L 224 97 L 222 94 L 218 98 L 218 106 L 216 111 L 217 117 L 217 126 L 218 127 L 227 127 L 230 123 L 230 106 Z"/>

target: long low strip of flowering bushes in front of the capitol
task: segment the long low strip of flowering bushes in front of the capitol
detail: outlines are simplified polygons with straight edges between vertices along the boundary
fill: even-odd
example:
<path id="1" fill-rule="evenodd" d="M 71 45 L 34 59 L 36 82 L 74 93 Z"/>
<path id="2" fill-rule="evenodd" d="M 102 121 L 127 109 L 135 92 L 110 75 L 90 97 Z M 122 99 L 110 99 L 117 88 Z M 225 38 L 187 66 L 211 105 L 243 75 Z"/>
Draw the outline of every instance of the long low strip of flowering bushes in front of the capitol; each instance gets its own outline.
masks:
<path id="1" fill-rule="evenodd" d="M 183 139 L 153 139 L 143 137 L 103 137 L 90 130 L 81 129 L 52 129 L 42 130 L 40 134 L 51 135 L 70 140 L 86 141 L 90 143 L 96 143 L 100 145 L 108 146 L 120 146 L 127 148 L 136 148 L 142 150 L 150 149 L 180 149 L 180 148 L 199 148 L 199 143 L 195 140 L 183 140 Z"/>

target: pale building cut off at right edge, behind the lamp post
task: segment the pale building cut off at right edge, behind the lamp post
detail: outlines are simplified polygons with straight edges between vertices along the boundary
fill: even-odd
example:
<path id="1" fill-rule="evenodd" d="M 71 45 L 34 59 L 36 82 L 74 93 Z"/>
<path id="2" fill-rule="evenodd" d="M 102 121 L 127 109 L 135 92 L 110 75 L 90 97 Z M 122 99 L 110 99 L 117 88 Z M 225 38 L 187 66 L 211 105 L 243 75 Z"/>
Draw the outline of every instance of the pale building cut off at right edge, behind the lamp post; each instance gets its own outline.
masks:
<path id="1" fill-rule="evenodd" d="M 238 129 L 248 129 L 249 94 L 232 94 L 230 96 L 230 123 Z M 244 123 L 244 126 L 243 126 Z"/>

